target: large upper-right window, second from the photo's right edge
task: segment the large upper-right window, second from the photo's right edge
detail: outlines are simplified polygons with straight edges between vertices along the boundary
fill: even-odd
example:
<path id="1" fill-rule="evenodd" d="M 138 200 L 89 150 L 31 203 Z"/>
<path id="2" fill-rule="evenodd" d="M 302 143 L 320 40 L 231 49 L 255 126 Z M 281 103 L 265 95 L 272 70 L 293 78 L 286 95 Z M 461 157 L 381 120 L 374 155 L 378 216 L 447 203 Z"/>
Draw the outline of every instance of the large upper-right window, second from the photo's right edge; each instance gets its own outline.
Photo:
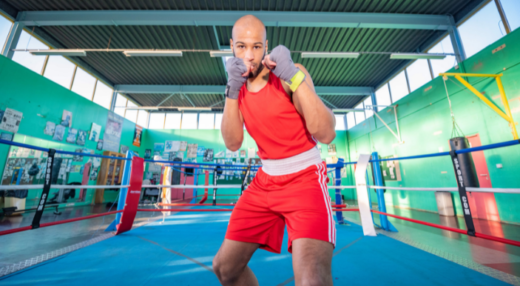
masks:
<path id="1" fill-rule="evenodd" d="M 489 2 L 459 27 L 466 57 L 471 57 L 502 38 L 500 29 L 503 27 L 496 4 Z"/>

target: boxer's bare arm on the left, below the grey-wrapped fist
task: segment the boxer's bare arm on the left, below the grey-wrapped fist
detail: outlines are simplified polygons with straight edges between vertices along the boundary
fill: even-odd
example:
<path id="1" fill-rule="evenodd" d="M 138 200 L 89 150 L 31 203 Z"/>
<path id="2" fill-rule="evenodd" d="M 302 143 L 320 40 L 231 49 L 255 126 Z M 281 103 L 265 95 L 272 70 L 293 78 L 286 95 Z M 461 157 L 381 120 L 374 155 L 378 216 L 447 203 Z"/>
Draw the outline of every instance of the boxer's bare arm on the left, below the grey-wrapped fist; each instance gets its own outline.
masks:
<path id="1" fill-rule="evenodd" d="M 244 119 L 238 109 L 238 100 L 226 97 L 222 125 L 220 127 L 226 148 L 237 151 L 244 140 Z"/>

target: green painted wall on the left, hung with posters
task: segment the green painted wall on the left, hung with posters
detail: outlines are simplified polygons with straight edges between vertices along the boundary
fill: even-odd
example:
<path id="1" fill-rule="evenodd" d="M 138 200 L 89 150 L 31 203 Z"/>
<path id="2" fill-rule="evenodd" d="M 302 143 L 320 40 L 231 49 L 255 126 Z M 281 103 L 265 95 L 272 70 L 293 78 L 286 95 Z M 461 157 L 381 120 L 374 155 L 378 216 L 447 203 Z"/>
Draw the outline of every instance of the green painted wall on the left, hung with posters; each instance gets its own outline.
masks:
<path id="1" fill-rule="evenodd" d="M 73 113 L 72 128 L 90 131 L 94 122 L 102 126 L 100 138 L 103 138 L 108 114 L 107 109 L 16 62 L 0 56 L 0 109 L 5 110 L 5 108 L 23 112 L 20 128 L 14 138 L 16 142 L 66 151 L 75 151 L 76 148 L 84 147 L 95 150 L 96 154 L 102 153 L 102 151 L 96 150 L 96 142 L 87 140 L 85 146 L 66 143 L 67 132 L 62 142 L 56 142 L 52 140 L 52 136 L 45 135 L 43 130 L 47 121 L 59 124 L 63 110 L 68 110 Z M 131 150 L 138 151 L 139 154 L 144 155 L 144 147 L 137 148 L 132 146 L 134 129 L 135 124 L 125 119 L 121 144 L 127 145 Z M 0 132 L 4 131 L 0 130 Z M 9 146 L 0 145 L 0 169 L 2 172 L 8 150 Z M 88 158 L 83 158 L 83 163 L 86 163 Z M 76 164 L 79 164 L 79 162 Z M 77 180 L 81 182 L 79 174 L 72 174 L 69 178 L 69 182 Z M 91 181 L 90 184 L 95 184 L 95 181 Z M 29 198 L 39 197 L 40 193 L 41 190 L 31 190 Z M 88 191 L 86 203 L 91 202 L 93 193 L 93 190 Z M 117 196 L 116 192 L 105 193 L 105 199 L 108 201 L 113 201 Z M 27 207 L 30 206 L 28 201 Z"/>

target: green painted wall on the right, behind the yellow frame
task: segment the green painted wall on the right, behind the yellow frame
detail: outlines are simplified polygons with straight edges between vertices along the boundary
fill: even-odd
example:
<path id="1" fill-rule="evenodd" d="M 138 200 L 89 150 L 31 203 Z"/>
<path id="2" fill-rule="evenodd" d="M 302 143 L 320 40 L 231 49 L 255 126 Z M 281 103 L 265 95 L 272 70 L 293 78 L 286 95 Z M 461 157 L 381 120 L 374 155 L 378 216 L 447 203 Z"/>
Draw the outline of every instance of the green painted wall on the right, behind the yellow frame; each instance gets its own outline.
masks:
<path id="1" fill-rule="evenodd" d="M 499 46 L 502 50 L 493 53 Z M 520 120 L 520 30 L 503 37 L 461 64 L 460 69 L 450 72 L 503 73 L 502 81 L 515 121 Z M 479 134 L 483 145 L 513 139 L 508 123 L 492 111 L 456 79 L 450 77 L 447 88 L 456 121 L 464 135 Z M 494 79 L 469 78 L 480 92 L 503 107 Z M 431 82 L 397 102 L 399 127 L 403 145 L 377 118 L 371 117 L 347 132 L 350 157 L 356 160 L 359 154 L 379 152 L 381 156 L 410 156 L 449 151 L 452 121 L 443 79 L 436 77 Z M 379 115 L 395 131 L 393 112 L 382 110 Z M 519 130 L 517 128 L 517 130 Z M 520 132 L 520 130 L 519 130 Z M 519 187 L 520 147 L 507 147 L 484 152 L 493 187 Z M 435 157 L 401 161 L 401 182 L 388 182 L 388 186 L 402 187 L 454 187 L 453 167 L 449 157 Z M 498 169 L 496 164 L 502 164 Z M 350 168 L 352 174 L 352 168 Z M 371 192 L 372 200 L 375 194 Z M 515 211 L 519 195 L 495 194 L 501 220 L 520 223 L 520 213 Z M 437 212 L 433 192 L 387 191 L 387 205 Z M 461 213 L 458 197 L 454 200 Z"/>

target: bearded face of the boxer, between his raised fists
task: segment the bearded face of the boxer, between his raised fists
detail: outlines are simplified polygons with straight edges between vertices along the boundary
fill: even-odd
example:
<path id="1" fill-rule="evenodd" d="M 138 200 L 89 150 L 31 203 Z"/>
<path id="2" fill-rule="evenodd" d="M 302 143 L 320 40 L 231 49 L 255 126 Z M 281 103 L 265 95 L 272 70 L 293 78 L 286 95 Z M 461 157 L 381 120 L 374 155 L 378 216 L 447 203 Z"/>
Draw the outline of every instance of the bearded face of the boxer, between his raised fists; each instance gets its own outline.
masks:
<path id="1" fill-rule="evenodd" d="M 238 29 L 231 39 L 233 55 L 244 60 L 249 77 L 255 78 L 264 68 L 262 60 L 267 51 L 263 27 Z"/>

